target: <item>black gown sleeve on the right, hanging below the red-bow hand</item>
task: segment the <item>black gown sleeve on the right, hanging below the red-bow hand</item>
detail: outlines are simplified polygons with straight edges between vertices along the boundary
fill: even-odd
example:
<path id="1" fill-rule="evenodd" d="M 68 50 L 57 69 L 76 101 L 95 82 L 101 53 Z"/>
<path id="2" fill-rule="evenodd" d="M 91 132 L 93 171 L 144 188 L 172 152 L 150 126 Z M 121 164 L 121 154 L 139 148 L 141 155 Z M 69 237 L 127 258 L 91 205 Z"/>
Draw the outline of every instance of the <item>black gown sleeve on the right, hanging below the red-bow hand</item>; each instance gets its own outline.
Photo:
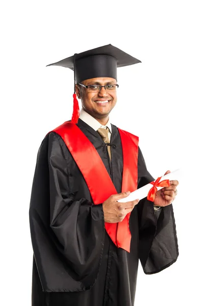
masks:
<path id="1" fill-rule="evenodd" d="M 142 152 L 138 152 L 138 188 L 154 181 L 147 171 Z M 147 198 L 138 203 L 139 258 L 145 274 L 162 271 L 179 256 L 172 204 L 154 210 Z"/>

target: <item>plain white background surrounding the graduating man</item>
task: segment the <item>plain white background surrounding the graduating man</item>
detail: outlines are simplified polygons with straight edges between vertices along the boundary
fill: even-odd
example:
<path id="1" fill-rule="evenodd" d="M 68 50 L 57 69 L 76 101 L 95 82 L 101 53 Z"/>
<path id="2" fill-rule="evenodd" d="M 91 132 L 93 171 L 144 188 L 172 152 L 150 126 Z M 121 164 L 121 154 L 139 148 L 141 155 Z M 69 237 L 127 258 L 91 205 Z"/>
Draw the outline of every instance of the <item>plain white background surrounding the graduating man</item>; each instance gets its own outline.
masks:
<path id="1" fill-rule="evenodd" d="M 0 14 L 1 304 L 31 305 L 37 151 L 72 113 L 73 72 L 45 66 L 111 43 L 142 61 L 118 69 L 112 123 L 139 136 L 153 176 L 181 169 L 173 204 L 180 256 L 158 274 L 139 267 L 136 305 L 202 305 L 202 1 L 5 1 Z"/>

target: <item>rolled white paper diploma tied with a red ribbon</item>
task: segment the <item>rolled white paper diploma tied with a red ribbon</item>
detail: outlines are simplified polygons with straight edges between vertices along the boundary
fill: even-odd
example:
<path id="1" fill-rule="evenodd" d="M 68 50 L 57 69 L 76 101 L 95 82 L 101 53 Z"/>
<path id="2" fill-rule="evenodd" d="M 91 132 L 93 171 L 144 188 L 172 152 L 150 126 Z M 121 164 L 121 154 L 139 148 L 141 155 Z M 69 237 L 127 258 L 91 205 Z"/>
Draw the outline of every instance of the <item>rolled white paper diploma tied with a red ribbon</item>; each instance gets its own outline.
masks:
<path id="1" fill-rule="evenodd" d="M 174 170 L 166 175 L 163 175 L 160 179 L 160 182 L 164 181 L 164 180 L 170 180 L 170 181 L 173 181 L 173 180 L 178 180 L 178 177 L 179 177 L 179 169 L 177 170 Z M 153 185 L 152 184 L 147 184 L 133 192 L 131 192 L 129 194 L 129 196 L 123 198 L 123 199 L 120 199 L 118 200 L 118 202 L 121 202 L 121 203 L 124 203 L 124 202 L 129 202 L 129 201 L 134 201 L 136 199 L 143 199 L 144 197 L 147 196 L 149 190 L 151 189 Z M 157 190 L 160 190 L 164 187 L 157 187 Z"/>

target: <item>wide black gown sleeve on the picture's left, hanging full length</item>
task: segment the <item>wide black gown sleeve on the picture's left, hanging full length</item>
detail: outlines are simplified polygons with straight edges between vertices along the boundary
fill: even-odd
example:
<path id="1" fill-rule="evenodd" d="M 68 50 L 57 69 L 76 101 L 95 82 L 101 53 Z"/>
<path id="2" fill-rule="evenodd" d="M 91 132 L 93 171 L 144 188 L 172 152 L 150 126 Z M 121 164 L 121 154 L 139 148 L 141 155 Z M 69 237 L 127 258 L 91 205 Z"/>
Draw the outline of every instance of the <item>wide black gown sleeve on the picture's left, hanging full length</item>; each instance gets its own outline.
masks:
<path id="1" fill-rule="evenodd" d="M 34 261 L 44 292 L 83 291 L 97 278 L 104 213 L 91 197 L 74 199 L 59 139 L 49 133 L 38 151 L 29 211 Z"/>

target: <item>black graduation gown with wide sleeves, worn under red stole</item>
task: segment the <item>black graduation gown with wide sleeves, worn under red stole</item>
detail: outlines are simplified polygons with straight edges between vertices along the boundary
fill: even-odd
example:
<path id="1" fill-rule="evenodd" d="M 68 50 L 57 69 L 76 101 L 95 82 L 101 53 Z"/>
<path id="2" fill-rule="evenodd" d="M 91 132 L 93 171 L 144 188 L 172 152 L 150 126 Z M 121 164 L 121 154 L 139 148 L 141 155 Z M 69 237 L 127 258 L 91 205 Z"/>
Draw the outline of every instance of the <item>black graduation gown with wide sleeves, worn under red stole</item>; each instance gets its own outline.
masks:
<path id="1" fill-rule="evenodd" d="M 78 126 L 120 193 L 123 159 L 117 127 L 112 125 L 111 143 L 116 147 L 112 146 L 110 163 L 99 134 L 81 119 Z M 138 188 L 153 180 L 139 149 Z M 77 164 L 54 132 L 46 135 L 38 151 L 30 228 L 32 306 L 133 306 L 138 260 L 144 273 L 151 274 L 173 264 L 179 255 L 172 205 L 157 215 L 146 198 L 131 213 L 130 253 L 117 248 L 105 231 L 102 203 L 93 205 Z"/>

